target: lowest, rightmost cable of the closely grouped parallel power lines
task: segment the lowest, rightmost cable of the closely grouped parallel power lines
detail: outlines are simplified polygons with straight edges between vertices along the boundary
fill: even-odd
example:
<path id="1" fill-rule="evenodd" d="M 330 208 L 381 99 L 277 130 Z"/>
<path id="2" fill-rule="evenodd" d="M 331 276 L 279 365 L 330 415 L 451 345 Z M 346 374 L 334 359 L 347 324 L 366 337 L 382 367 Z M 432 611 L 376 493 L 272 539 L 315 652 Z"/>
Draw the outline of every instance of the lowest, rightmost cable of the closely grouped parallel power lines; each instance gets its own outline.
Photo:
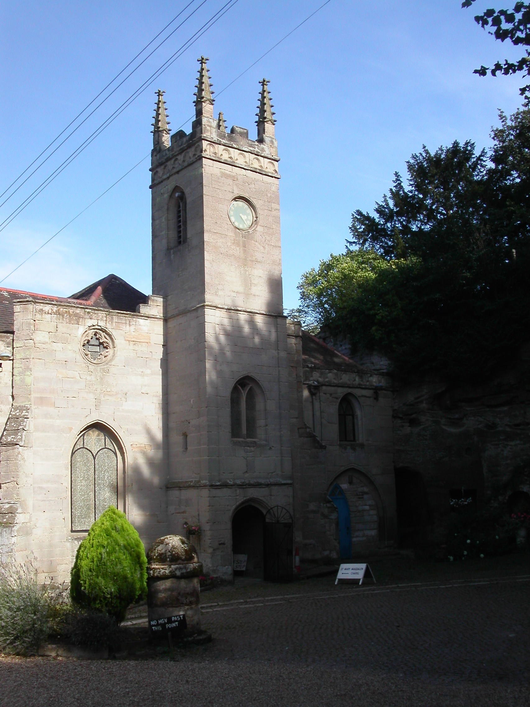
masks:
<path id="1" fill-rule="evenodd" d="M 76 157 L 78 157 L 84 150 L 86 150 L 88 145 L 90 145 L 91 142 L 93 142 L 107 127 L 109 127 L 109 125 L 114 122 L 114 120 L 119 115 L 121 115 L 122 112 L 124 112 L 124 110 L 126 110 L 126 108 L 128 108 L 129 105 L 131 105 L 131 103 L 133 103 L 134 100 L 136 100 L 136 98 L 138 98 L 139 95 L 141 95 L 141 93 L 146 90 L 146 88 L 151 85 L 151 83 L 154 83 L 154 81 L 156 81 L 156 79 L 161 76 L 164 71 L 169 69 L 169 67 L 174 62 L 176 62 L 177 59 L 179 59 L 179 57 L 181 57 L 182 54 L 184 54 L 184 52 L 189 49 L 189 47 L 192 47 L 192 45 L 194 45 L 195 42 L 199 40 L 199 38 L 202 37 L 202 35 L 204 35 L 211 27 L 213 27 L 213 25 L 215 25 L 220 20 L 220 18 L 222 18 L 223 15 L 225 15 L 225 13 L 227 13 L 237 2 L 239 2 L 239 0 L 228 0 L 228 2 L 225 3 L 225 5 L 220 8 L 220 10 L 214 13 L 213 16 L 211 16 L 211 18 L 209 18 L 208 21 L 206 21 L 206 23 L 204 23 L 204 25 L 202 25 L 201 28 L 199 28 L 199 30 L 194 33 L 194 35 L 192 35 L 192 37 L 189 37 L 189 39 L 186 40 L 186 42 L 184 42 L 184 44 L 181 45 L 179 49 L 177 49 L 177 52 L 175 52 L 175 54 L 172 54 L 172 56 L 167 59 L 164 64 L 162 64 L 162 66 L 159 66 L 159 68 L 154 72 L 154 74 L 151 74 L 151 76 L 149 76 L 149 78 L 146 79 L 146 81 L 144 81 L 141 86 L 134 91 L 134 93 L 129 95 L 129 98 L 126 98 L 122 105 L 117 107 L 117 109 L 114 110 L 114 112 L 111 113 L 111 115 L 107 119 L 105 119 L 105 121 L 103 121 L 102 124 L 100 124 L 100 126 L 96 128 L 95 131 L 91 133 L 88 138 L 86 138 L 86 140 L 84 140 L 81 145 L 78 146 L 66 158 L 66 160 L 61 162 L 61 164 L 57 168 L 55 168 L 54 171 L 50 175 L 48 175 L 48 177 L 46 177 L 46 179 L 41 182 L 40 185 L 33 190 L 33 192 L 31 192 L 31 194 L 16 207 L 16 209 L 11 211 L 11 214 L 6 216 L 4 221 L 0 223 L 0 232 L 4 230 L 4 228 L 7 228 L 11 221 L 13 221 L 18 216 L 18 214 L 24 211 L 24 209 L 29 206 L 31 202 L 36 199 L 38 195 L 44 189 L 46 189 L 46 187 L 51 184 L 59 176 L 59 174 L 61 174 L 61 172 L 64 171 L 66 167 L 68 167 L 71 162 L 73 162 L 73 160 L 76 159 Z"/>

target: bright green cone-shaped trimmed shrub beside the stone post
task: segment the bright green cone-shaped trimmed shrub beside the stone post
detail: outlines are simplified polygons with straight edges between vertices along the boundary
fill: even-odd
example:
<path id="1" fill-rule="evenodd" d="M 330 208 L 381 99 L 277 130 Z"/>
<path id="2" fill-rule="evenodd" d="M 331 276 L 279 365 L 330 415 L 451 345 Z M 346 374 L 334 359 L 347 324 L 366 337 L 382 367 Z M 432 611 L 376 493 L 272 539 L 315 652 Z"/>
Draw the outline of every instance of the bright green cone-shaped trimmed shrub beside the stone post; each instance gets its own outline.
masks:
<path id="1" fill-rule="evenodd" d="M 111 506 L 81 542 L 73 563 L 71 600 L 121 623 L 129 604 L 147 596 L 147 559 L 139 534 Z"/>

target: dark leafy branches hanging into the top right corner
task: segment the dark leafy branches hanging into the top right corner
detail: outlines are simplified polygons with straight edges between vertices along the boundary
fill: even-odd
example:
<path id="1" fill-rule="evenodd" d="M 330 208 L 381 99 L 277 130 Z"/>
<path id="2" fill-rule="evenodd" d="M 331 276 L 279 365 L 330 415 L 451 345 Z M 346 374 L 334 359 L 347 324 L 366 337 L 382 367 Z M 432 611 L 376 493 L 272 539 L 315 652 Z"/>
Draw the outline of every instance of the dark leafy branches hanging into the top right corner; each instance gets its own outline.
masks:
<path id="1" fill-rule="evenodd" d="M 464 0 L 463 8 L 471 7 L 475 0 Z M 515 46 L 530 46 L 530 4 L 517 2 L 512 11 L 510 10 L 495 10 L 488 8 L 481 15 L 475 16 L 475 22 L 485 30 L 486 27 L 492 28 L 488 30 L 490 35 L 493 35 L 496 40 L 505 42 L 510 40 Z M 495 29 L 493 29 L 495 28 Z M 493 31 L 492 31 L 493 30 Z M 523 76 L 530 76 L 530 51 L 524 50 L 524 55 L 517 59 L 516 62 L 510 62 L 505 59 L 504 62 L 495 62 L 490 68 L 489 66 L 481 66 L 480 69 L 475 69 L 473 74 L 486 76 L 490 71 L 492 76 L 497 74 L 522 73 Z M 525 98 L 525 103 L 530 100 L 530 83 L 522 86 L 519 93 Z"/>

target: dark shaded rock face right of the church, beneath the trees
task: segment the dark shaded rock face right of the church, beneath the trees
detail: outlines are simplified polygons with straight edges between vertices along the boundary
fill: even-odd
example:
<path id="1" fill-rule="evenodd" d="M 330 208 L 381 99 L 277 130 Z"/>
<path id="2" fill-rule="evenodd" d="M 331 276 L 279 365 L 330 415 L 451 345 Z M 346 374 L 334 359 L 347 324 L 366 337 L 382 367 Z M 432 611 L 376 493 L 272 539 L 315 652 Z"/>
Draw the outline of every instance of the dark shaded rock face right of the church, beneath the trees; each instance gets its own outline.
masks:
<path id="1" fill-rule="evenodd" d="M 451 489 L 476 489 L 479 506 L 530 491 L 529 431 L 530 346 L 481 385 L 397 387 L 394 462 L 425 486 L 425 537 L 440 530 Z"/>

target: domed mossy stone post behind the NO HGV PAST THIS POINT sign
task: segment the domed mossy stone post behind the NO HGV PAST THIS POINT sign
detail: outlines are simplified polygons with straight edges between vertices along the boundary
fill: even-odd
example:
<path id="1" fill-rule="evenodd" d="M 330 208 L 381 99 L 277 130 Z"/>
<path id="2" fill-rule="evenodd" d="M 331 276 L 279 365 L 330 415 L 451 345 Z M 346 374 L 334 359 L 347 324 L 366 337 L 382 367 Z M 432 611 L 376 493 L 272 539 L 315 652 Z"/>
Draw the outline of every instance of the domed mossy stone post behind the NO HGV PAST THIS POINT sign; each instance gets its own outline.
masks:
<path id="1" fill-rule="evenodd" d="M 179 535 L 155 540 L 147 554 L 149 621 L 186 614 L 186 633 L 201 630 L 199 562 L 194 546 Z"/>

